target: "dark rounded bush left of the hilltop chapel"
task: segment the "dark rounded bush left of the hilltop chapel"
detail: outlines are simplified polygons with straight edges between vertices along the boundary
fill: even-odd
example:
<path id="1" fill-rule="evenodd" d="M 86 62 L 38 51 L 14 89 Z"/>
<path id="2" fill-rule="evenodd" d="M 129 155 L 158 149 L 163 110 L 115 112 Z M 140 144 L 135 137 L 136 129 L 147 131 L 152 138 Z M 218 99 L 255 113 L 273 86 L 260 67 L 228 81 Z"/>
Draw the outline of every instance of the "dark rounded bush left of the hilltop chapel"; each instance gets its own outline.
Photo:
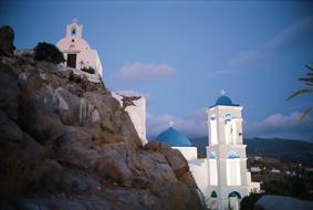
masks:
<path id="1" fill-rule="evenodd" d="M 48 61 L 54 64 L 64 62 L 63 53 L 53 44 L 40 42 L 34 48 L 34 59 L 36 61 Z"/>

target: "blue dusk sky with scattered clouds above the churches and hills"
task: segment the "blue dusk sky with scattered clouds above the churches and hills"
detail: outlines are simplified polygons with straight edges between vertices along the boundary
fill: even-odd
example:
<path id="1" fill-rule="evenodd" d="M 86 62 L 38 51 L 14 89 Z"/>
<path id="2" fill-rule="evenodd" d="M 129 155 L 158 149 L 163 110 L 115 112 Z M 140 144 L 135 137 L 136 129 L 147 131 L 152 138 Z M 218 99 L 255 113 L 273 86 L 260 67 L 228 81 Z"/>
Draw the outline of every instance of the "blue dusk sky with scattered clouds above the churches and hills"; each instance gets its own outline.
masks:
<path id="1" fill-rule="evenodd" d="M 17 49 L 56 43 L 74 18 L 98 51 L 112 91 L 147 99 L 147 133 L 206 136 L 206 108 L 220 96 L 243 106 L 244 137 L 313 141 L 313 97 L 286 101 L 313 64 L 310 1 L 0 0 L 0 25 Z"/>

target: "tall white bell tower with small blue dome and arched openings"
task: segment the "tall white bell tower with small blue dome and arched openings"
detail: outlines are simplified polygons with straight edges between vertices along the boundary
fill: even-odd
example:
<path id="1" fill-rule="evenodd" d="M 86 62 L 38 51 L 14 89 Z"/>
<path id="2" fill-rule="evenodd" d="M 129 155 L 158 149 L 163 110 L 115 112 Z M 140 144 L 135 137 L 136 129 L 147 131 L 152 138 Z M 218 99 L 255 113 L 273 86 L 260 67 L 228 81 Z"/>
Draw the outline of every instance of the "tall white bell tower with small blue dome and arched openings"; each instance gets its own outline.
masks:
<path id="1" fill-rule="evenodd" d="M 221 91 L 216 104 L 207 109 L 209 161 L 209 203 L 212 209 L 239 208 L 248 196 L 246 145 L 242 140 L 242 107 Z M 230 198 L 234 198 L 230 200 Z"/>

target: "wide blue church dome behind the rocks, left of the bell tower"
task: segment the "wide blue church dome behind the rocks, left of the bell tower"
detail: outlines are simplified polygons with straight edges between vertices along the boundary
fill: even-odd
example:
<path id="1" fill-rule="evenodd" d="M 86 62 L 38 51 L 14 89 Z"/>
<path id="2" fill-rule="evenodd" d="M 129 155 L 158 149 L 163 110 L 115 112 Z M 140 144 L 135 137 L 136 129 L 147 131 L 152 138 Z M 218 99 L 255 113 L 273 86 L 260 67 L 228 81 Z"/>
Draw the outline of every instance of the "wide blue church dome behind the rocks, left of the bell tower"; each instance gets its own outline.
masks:
<path id="1" fill-rule="evenodd" d="M 190 140 L 181 133 L 173 127 L 164 130 L 157 136 L 157 140 L 161 143 L 167 143 L 169 146 L 176 147 L 188 147 L 191 146 Z"/>

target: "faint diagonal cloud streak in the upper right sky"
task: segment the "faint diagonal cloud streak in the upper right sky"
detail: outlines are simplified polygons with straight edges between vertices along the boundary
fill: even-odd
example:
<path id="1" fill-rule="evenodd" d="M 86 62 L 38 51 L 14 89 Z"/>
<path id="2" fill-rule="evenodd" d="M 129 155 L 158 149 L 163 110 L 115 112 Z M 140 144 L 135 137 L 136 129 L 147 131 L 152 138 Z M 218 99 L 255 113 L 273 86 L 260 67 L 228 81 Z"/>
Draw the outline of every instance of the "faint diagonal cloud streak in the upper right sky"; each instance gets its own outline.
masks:
<path id="1" fill-rule="evenodd" d="M 313 18 L 309 17 L 302 19 L 298 22 L 294 22 L 283 29 L 280 33 L 274 35 L 265 43 L 267 50 L 274 50 L 281 48 L 299 36 L 302 32 L 304 32 L 307 28 L 313 25 Z"/>

